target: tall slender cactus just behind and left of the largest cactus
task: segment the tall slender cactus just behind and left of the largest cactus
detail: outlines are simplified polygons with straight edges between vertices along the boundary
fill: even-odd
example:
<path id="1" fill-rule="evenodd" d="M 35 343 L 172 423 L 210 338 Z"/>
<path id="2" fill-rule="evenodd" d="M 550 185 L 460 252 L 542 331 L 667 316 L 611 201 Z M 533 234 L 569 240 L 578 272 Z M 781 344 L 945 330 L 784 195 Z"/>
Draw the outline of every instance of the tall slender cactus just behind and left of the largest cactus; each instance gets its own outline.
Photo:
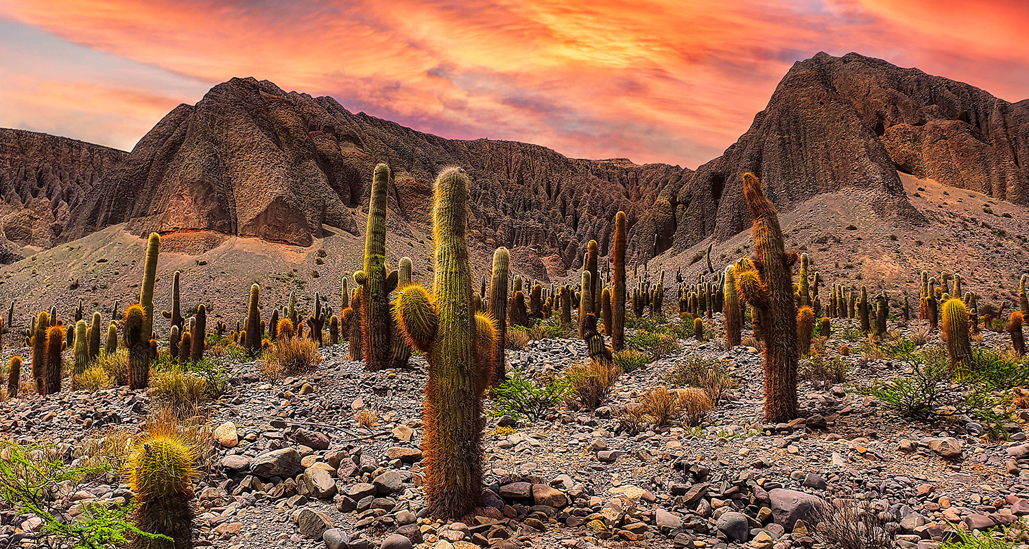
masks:
<path id="1" fill-rule="evenodd" d="M 390 170 L 376 166 L 368 201 L 368 224 L 364 237 L 364 268 L 354 273 L 361 288 L 361 339 L 364 365 L 368 370 L 389 368 L 390 323 L 389 295 L 396 288 L 396 271 L 386 270 L 386 199 Z M 471 298 L 468 298 L 469 301 Z"/>

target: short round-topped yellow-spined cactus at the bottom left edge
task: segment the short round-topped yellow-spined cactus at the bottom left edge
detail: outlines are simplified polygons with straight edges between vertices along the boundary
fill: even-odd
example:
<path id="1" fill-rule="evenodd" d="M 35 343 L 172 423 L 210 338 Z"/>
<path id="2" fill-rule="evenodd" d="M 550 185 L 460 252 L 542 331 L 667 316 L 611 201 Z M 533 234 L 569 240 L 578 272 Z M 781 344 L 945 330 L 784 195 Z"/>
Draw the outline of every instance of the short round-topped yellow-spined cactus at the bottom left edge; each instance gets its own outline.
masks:
<path id="1" fill-rule="evenodd" d="M 170 431 L 170 430 L 169 430 Z M 136 445 L 126 466 L 129 486 L 136 493 L 136 526 L 173 540 L 138 537 L 138 549 L 191 549 L 193 452 L 174 432 L 147 437 Z"/>

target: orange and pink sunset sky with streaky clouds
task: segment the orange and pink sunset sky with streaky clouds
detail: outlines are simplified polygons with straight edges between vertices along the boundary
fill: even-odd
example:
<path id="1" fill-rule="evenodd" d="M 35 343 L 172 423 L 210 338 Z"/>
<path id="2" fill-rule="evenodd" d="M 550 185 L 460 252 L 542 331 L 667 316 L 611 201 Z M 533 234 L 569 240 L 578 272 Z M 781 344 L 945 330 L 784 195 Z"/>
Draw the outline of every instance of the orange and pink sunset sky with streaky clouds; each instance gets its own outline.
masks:
<path id="1" fill-rule="evenodd" d="M 131 149 L 254 76 L 443 137 L 696 168 L 819 50 L 1020 101 L 1027 36 L 1022 0 L 0 0 L 0 127 Z"/>

